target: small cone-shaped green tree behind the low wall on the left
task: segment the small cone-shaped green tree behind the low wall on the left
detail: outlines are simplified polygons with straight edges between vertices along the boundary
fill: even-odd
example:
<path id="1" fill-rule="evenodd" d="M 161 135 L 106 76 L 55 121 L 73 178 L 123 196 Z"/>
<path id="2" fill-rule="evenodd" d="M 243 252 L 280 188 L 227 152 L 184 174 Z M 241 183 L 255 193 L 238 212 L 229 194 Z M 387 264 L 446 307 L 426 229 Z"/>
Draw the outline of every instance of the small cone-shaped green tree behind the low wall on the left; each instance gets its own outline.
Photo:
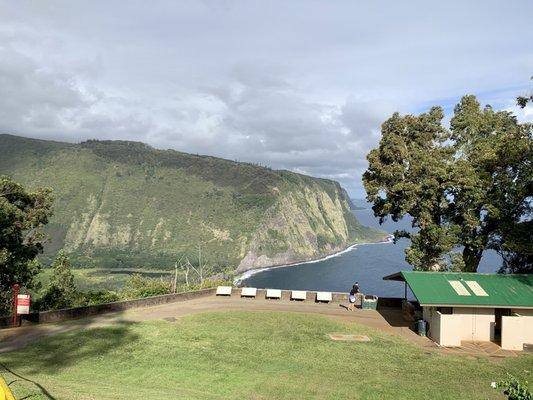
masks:
<path id="1" fill-rule="evenodd" d="M 80 300 L 80 294 L 74 283 L 70 259 L 63 250 L 57 253 L 51 265 L 52 277 L 44 295 L 36 308 L 41 310 L 59 310 L 73 307 Z"/>

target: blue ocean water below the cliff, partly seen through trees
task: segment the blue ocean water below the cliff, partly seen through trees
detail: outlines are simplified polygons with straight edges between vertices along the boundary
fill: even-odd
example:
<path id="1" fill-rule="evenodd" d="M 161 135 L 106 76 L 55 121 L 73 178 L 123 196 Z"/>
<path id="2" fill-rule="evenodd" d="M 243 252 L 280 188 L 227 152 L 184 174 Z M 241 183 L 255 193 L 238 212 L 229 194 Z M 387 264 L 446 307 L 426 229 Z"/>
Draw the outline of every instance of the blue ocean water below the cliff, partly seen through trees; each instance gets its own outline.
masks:
<path id="1" fill-rule="evenodd" d="M 386 221 L 380 226 L 370 209 L 357 210 L 354 213 L 363 225 L 380 228 L 389 233 L 397 229 L 411 229 L 409 220 L 398 223 Z M 409 241 L 406 239 L 396 244 L 357 245 L 323 261 L 257 272 L 244 279 L 242 284 L 258 288 L 347 292 L 352 284 L 358 281 L 361 291 L 365 294 L 403 297 L 404 284 L 384 281 L 383 277 L 398 271 L 411 270 L 404 256 L 404 249 L 408 245 Z M 495 272 L 500 265 L 500 256 L 494 251 L 486 251 L 478 271 Z"/>

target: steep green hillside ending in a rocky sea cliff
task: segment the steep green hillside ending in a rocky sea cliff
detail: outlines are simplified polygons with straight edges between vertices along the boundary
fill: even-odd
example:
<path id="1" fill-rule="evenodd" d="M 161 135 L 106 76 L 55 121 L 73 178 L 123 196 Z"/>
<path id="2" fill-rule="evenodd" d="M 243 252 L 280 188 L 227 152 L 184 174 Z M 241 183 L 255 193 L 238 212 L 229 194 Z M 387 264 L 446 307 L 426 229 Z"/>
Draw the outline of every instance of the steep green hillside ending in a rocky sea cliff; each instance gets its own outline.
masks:
<path id="1" fill-rule="evenodd" d="M 84 266 L 169 267 L 181 254 L 246 270 L 376 241 L 334 181 L 138 142 L 0 135 L 0 174 L 52 187 L 46 248 Z"/>

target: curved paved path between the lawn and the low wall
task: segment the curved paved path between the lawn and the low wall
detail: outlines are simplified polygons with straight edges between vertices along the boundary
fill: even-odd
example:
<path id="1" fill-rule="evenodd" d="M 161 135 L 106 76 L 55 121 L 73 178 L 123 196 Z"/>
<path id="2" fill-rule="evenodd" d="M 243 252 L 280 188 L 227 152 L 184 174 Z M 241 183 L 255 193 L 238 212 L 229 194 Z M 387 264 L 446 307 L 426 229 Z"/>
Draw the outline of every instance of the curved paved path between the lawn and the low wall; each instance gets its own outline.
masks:
<path id="1" fill-rule="evenodd" d="M 338 303 L 317 304 L 312 302 L 216 297 L 214 295 L 159 306 L 132 309 L 124 312 L 102 314 L 57 324 L 29 325 L 21 328 L 0 330 L 0 353 L 19 349 L 47 335 L 70 332 L 76 329 L 108 326 L 117 323 L 172 319 L 203 312 L 230 310 L 320 314 L 400 335 L 428 350 L 437 350 L 448 354 L 491 356 L 488 351 L 485 351 L 483 347 L 479 346 L 467 346 L 456 350 L 439 348 L 430 339 L 420 337 L 409 329 L 409 322 L 403 319 L 402 313 L 398 309 L 383 309 L 379 312 L 361 309 L 347 311 L 343 305 Z M 490 351 L 493 352 L 494 349 L 491 348 Z M 500 351 L 497 354 L 498 357 L 509 355 L 515 355 L 515 353 Z"/>

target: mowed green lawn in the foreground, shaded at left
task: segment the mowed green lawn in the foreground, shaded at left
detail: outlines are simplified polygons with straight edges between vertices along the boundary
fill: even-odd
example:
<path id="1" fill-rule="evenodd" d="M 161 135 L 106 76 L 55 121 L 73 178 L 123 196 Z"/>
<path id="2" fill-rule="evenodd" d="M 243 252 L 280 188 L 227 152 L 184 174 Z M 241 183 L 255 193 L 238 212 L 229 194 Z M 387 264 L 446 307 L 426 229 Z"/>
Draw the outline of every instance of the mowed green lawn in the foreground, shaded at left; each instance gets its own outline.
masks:
<path id="1" fill-rule="evenodd" d="M 280 312 L 122 322 L 49 336 L 0 362 L 18 375 L 2 371 L 17 398 L 30 399 L 503 399 L 491 381 L 506 372 L 533 380 L 531 355 L 443 355 L 354 323 Z"/>

